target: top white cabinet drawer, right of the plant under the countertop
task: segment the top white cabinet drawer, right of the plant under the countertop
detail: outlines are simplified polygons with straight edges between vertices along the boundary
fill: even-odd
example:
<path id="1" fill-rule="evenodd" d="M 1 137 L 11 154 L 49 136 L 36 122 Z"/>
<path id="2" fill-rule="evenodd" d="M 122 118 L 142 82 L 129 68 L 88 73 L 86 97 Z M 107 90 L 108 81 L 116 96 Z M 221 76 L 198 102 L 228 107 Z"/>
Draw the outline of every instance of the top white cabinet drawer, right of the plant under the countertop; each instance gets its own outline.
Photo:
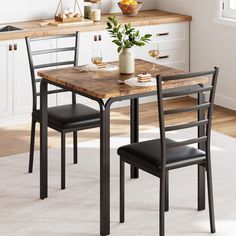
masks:
<path id="1" fill-rule="evenodd" d="M 141 34 L 152 34 L 151 41 L 184 41 L 189 42 L 189 23 L 173 23 L 140 27 Z"/>

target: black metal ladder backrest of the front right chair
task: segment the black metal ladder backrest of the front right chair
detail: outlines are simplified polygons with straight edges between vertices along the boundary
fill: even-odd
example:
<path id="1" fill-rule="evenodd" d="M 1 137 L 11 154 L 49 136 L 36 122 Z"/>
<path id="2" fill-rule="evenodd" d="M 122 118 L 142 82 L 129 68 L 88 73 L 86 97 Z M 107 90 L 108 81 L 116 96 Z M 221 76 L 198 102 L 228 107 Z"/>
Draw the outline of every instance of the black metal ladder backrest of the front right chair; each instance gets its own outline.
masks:
<path id="1" fill-rule="evenodd" d="M 211 123 L 212 123 L 212 112 L 214 106 L 214 98 L 216 92 L 217 77 L 219 73 L 219 68 L 215 67 L 214 70 L 198 73 L 180 74 L 174 76 L 157 76 L 157 97 L 158 97 L 158 115 L 159 115 L 159 128 L 160 128 L 160 139 L 161 139 L 161 154 L 162 163 L 161 167 L 166 166 L 166 151 L 168 148 L 173 148 L 177 146 L 184 146 L 190 144 L 203 144 L 206 151 L 209 151 L 210 146 L 210 135 L 211 135 Z M 171 81 L 186 81 L 188 79 L 202 79 L 202 77 L 209 78 L 210 83 L 202 85 L 200 82 L 195 86 L 179 87 L 176 89 L 163 90 L 163 85 Z M 208 94 L 207 94 L 208 93 Z M 200 103 L 200 94 L 204 96 L 204 102 Z M 174 109 L 165 109 L 164 98 L 180 97 L 185 95 L 197 95 L 198 100 L 196 105 L 182 106 Z M 208 96 L 205 96 L 208 95 Z M 206 99 L 205 99 L 206 97 Z M 192 122 L 186 122 L 181 124 L 172 124 L 167 126 L 166 119 L 170 115 L 182 115 L 185 112 L 195 111 L 197 119 Z M 202 112 L 203 115 L 199 115 Z M 167 143 L 166 136 L 169 131 L 184 130 L 187 128 L 196 127 L 203 130 L 203 135 L 201 137 L 195 137 L 191 139 L 186 139 L 184 141 Z"/>

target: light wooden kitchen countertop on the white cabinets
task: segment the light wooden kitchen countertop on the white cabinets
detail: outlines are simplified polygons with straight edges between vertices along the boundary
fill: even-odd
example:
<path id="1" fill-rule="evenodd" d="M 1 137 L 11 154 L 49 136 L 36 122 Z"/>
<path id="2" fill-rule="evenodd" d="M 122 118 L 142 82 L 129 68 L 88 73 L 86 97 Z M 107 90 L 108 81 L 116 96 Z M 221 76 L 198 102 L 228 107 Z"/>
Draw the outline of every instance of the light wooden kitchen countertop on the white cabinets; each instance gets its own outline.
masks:
<path id="1" fill-rule="evenodd" d="M 111 14 L 110 14 L 111 15 Z M 25 21 L 25 22 L 16 22 L 16 23 L 5 23 L 1 25 L 13 25 L 19 28 L 22 28 L 21 31 L 12 31 L 12 32 L 1 32 L 0 40 L 13 40 L 20 39 L 26 36 L 29 37 L 44 37 L 58 34 L 67 34 L 73 33 L 75 31 L 80 32 L 89 32 L 104 30 L 106 28 L 107 17 L 110 15 L 103 15 L 100 22 L 86 24 L 84 26 L 76 25 L 65 25 L 65 26 L 41 26 L 43 20 L 37 21 Z M 120 23 L 132 22 L 133 26 L 147 26 L 147 25 L 158 25 L 158 24 L 167 24 L 167 23 L 177 23 L 191 21 L 191 16 L 180 15 L 176 13 L 163 12 L 158 10 L 148 10 L 141 11 L 135 17 L 127 17 L 122 14 L 113 14 L 117 16 L 117 19 Z"/>

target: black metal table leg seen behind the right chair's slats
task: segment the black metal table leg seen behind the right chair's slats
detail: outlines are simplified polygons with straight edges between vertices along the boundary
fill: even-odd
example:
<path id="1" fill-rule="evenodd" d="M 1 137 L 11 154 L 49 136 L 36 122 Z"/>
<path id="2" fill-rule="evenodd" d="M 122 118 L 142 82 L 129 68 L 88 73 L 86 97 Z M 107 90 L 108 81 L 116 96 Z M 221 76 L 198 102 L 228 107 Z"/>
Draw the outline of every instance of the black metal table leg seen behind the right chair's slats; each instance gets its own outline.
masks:
<path id="1" fill-rule="evenodd" d="M 202 86 L 202 85 L 200 85 Z M 198 94 L 198 104 L 205 102 L 204 92 Z M 205 109 L 200 109 L 198 112 L 198 119 L 203 120 L 205 117 Z M 205 126 L 198 127 L 198 137 L 205 135 Z M 205 150 L 204 143 L 199 143 L 198 148 Z M 198 165 L 198 210 L 205 210 L 205 167 Z"/>

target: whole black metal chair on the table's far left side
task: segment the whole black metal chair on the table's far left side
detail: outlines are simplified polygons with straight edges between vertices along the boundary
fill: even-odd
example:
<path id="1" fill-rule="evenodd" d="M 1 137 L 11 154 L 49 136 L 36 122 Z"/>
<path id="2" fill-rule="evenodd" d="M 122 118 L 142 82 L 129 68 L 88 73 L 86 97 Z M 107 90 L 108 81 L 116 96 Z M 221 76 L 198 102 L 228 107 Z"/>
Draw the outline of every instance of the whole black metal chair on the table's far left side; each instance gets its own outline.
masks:
<path id="1" fill-rule="evenodd" d="M 78 49 L 79 49 L 79 33 L 75 34 L 66 34 L 60 36 L 44 37 L 44 38 L 28 38 L 26 37 L 26 46 L 29 57 L 29 65 L 31 72 L 31 82 L 32 82 L 32 95 L 33 95 L 33 109 L 32 109 L 32 124 L 31 124 L 31 141 L 30 141 L 30 156 L 29 156 L 29 173 L 33 171 L 33 159 L 34 159 L 34 143 L 35 143 L 35 125 L 37 122 L 40 122 L 40 110 L 38 109 L 37 97 L 40 96 L 40 93 L 37 92 L 37 84 L 40 83 L 41 78 L 38 78 L 36 73 L 38 69 L 42 68 L 57 68 L 61 66 L 77 66 L 78 64 Z M 40 48 L 40 50 L 33 50 L 33 44 L 42 43 L 45 41 L 52 42 L 58 40 L 70 40 L 72 41 L 72 46 L 63 46 L 49 48 L 48 46 Z M 50 44 L 50 43 L 49 43 Z M 64 44 L 63 44 L 64 45 Z M 45 62 L 43 64 L 36 64 L 34 59 L 37 56 L 47 56 L 49 58 L 54 55 L 58 58 L 59 54 L 68 53 L 72 54 L 72 59 L 56 62 Z M 68 55 L 66 55 L 68 56 Z M 36 60 L 36 59 L 35 59 Z M 43 59 L 44 60 L 44 59 Z M 48 94 L 58 94 L 67 92 L 64 89 L 56 88 L 48 91 Z M 100 126 L 100 113 L 99 111 L 92 109 L 83 104 L 76 103 L 76 94 L 72 93 L 72 103 L 68 105 L 59 105 L 48 108 L 48 127 L 61 133 L 61 188 L 65 189 L 65 135 L 68 132 L 73 132 L 73 146 L 74 146 L 74 163 L 78 162 L 77 160 L 77 131 L 90 129 Z"/>

